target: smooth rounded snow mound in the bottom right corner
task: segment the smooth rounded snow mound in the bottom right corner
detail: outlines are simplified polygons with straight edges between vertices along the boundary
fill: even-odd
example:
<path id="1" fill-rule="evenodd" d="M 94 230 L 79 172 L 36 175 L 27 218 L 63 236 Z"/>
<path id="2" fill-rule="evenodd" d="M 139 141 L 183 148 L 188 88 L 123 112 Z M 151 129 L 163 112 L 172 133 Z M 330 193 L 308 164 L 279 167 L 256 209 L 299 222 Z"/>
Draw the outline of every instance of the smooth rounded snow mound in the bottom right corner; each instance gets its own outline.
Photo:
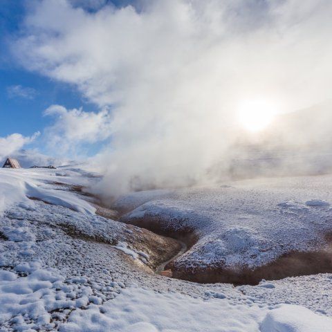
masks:
<path id="1" fill-rule="evenodd" d="M 261 332 L 332 332 L 332 320 L 303 306 L 285 305 L 270 311 Z"/>

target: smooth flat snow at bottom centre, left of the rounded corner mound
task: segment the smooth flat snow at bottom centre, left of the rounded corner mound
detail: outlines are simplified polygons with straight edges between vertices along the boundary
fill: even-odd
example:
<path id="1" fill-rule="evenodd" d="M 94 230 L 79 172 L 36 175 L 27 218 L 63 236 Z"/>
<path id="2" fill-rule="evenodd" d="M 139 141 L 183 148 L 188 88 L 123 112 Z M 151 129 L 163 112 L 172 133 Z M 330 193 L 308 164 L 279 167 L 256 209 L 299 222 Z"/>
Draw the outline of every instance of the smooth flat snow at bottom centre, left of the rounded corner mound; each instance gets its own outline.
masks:
<path id="1" fill-rule="evenodd" d="M 102 307 L 76 310 L 61 332 L 259 332 L 266 310 L 225 299 L 127 288 Z M 332 322 L 332 321 L 331 321 Z"/>

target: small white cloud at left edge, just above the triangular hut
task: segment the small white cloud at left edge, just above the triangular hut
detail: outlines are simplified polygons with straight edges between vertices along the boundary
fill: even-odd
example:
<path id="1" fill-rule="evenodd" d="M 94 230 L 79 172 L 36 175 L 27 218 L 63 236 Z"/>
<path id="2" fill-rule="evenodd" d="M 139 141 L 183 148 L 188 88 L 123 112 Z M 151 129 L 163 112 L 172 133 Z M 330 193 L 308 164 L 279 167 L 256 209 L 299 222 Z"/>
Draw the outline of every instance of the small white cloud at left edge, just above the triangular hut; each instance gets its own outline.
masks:
<path id="1" fill-rule="evenodd" d="M 15 154 L 19 149 L 33 142 L 39 136 L 39 132 L 33 134 L 33 136 L 23 136 L 21 133 L 12 133 L 6 137 L 0 137 L 0 158 L 10 157 L 11 154 Z"/>

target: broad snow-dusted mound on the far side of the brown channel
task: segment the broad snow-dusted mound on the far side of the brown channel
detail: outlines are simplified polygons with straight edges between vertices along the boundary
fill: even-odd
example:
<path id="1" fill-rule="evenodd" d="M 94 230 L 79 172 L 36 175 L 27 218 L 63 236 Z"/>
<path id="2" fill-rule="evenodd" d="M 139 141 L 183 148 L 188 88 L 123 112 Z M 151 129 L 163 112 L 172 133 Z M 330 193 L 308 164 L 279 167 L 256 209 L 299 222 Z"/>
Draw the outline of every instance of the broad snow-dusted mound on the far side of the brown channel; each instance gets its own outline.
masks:
<path id="1" fill-rule="evenodd" d="M 199 241 L 178 259 L 187 268 L 255 268 L 292 251 L 324 250 L 332 231 L 332 176 L 233 181 L 220 186 L 136 192 L 115 207 L 122 217 L 165 230 L 189 228 Z M 146 227 L 146 225 L 145 225 Z"/>

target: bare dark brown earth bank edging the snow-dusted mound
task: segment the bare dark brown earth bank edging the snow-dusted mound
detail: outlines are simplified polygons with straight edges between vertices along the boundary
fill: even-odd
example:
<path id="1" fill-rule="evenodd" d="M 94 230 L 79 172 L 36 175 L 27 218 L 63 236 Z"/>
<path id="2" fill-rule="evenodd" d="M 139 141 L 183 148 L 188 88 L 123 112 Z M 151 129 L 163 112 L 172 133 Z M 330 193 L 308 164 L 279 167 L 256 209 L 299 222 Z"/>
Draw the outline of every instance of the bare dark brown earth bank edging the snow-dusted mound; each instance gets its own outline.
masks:
<path id="1" fill-rule="evenodd" d="M 165 229 L 163 219 L 156 216 L 129 219 L 124 215 L 120 218 L 120 221 L 181 240 L 187 245 L 188 249 L 199 239 L 199 234 L 190 228 L 182 228 L 181 230 Z M 223 266 L 222 263 L 220 266 L 181 268 L 176 266 L 174 261 L 170 261 L 165 266 L 165 270 L 172 270 L 172 277 L 176 279 L 201 284 L 229 283 L 235 285 L 256 285 L 261 282 L 261 279 L 277 280 L 299 275 L 332 273 L 332 232 L 325 234 L 324 238 L 326 242 L 331 243 L 329 248 L 310 252 L 288 252 L 275 259 L 275 261 L 255 269 L 250 269 L 247 266 L 228 268 Z"/>

